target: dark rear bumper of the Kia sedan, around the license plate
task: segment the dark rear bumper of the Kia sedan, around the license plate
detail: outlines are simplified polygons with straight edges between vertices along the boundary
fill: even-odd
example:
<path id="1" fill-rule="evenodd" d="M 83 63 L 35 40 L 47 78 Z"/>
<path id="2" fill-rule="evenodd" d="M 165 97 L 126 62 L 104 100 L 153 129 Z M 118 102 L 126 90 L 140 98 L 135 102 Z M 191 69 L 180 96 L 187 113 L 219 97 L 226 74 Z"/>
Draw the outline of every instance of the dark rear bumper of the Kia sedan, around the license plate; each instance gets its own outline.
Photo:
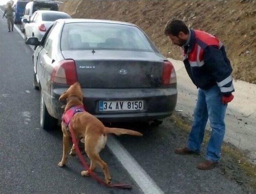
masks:
<path id="1" fill-rule="evenodd" d="M 60 95 L 67 88 L 52 89 L 50 104 L 52 116 L 60 118 L 63 103 L 58 102 Z M 177 89 L 174 88 L 127 88 L 127 89 L 96 89 L 83 88 L 84 107 L 104 122 L 141 121 L 166 118 L 172 114 L 177 102 Z M 143 111 L 100 112 L 100 100 L 144 100 Z"/>

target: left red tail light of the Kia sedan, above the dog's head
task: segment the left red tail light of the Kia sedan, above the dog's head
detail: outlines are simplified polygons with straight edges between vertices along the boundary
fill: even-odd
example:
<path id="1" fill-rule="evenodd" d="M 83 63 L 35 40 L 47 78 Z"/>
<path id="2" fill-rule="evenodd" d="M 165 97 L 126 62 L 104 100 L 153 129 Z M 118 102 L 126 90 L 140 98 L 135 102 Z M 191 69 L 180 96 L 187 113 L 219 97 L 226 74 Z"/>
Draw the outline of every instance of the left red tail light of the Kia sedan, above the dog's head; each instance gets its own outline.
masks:
<path id="1" fill-rule="evenodd" d="M 60 61 L 52 71 L 52 82 L 68 85 L 77 82 L 75 61 L 72 59 Z"/>

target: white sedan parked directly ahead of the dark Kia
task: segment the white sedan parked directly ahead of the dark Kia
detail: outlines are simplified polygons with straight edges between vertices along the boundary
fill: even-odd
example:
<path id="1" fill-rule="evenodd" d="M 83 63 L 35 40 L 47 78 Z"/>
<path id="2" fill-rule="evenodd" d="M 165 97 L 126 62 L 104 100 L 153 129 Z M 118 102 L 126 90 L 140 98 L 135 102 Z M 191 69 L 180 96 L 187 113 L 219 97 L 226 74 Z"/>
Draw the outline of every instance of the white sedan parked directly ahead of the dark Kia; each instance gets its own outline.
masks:
<path id="1" fill-rule="evenodd" d="M 40 10 L 34 12 L 30 20 L 24 19 L 23 22 L 26 23 L 25 29 L 25 41 L 29 37 L 37 37 L 38 40 L 41 40 L 44 36 L 46 30 L 52 25 L 55 20 L 58 19 L 68 19 L 71 18 L 68 14 L 64 12 L 57 11 L 46 11 Z"/>

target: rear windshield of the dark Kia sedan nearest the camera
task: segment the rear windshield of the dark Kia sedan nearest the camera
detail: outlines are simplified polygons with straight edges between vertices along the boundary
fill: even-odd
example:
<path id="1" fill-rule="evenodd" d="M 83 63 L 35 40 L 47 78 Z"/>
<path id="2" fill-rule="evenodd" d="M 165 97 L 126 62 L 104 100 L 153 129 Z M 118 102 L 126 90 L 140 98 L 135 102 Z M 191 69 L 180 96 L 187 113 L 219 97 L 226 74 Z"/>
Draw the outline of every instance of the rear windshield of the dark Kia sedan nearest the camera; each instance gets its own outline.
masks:
<path id="1" fill-rule="evenodd" d="M 93 22 L 65 24 L 61 49 L 62 51 L 90 49 L 157 51 L 138 27 Z"/>

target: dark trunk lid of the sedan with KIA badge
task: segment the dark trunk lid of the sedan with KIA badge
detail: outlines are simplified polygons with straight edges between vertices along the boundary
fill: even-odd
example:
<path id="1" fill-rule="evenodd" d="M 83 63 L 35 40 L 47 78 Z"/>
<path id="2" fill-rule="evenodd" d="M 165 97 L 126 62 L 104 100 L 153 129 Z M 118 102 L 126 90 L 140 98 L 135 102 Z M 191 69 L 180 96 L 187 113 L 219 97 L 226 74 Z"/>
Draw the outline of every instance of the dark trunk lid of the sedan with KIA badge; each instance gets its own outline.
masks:
<path id="1" fill-rule="evenodd" d="M 164 57 L 139 51 L 62 51 L 76 63 L 78 81 L 85 88 L 140 88 L 161 85 Z"/>

